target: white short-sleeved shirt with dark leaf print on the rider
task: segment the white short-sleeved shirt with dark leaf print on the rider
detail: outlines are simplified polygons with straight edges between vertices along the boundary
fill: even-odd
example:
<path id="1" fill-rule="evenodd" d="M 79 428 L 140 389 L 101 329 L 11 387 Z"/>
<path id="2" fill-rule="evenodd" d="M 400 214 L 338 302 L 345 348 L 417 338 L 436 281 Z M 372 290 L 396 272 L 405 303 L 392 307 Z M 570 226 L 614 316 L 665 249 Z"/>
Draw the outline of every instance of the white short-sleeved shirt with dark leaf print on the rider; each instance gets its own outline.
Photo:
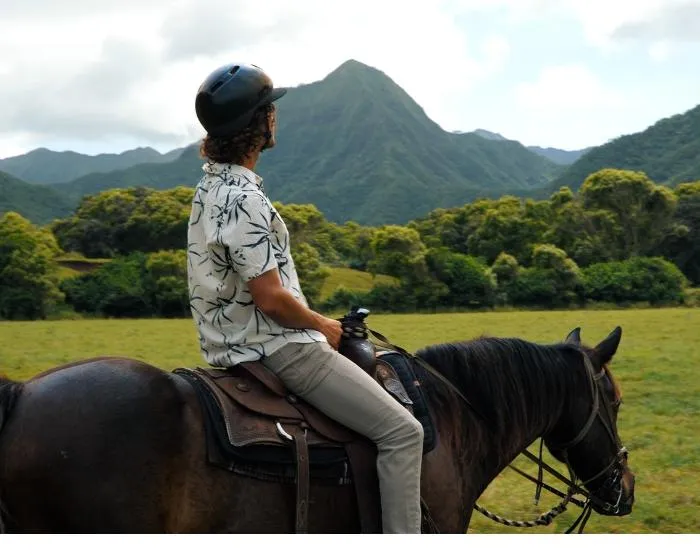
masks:
<path id="1" fill-rule="evenodd" d="M 248 281 L 277 268 L 284 288 L 308 305 L 289 232 L 262 185 L 243 166 L 208 162 L 195 189 L 187 232 L 190 309 L 208 364 L 258 361 L 287 342 L 325 342 L 318 331 L 278 325 L 260 311 Z"/>

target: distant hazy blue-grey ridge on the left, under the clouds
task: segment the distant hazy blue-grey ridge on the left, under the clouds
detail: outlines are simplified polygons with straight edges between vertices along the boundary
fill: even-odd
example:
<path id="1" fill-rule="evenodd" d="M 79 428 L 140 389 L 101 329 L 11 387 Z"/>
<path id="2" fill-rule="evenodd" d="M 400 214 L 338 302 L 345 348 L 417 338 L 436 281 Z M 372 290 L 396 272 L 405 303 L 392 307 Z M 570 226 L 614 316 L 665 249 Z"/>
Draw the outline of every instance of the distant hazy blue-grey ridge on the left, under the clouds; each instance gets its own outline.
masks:
<path id="1" fill-rule="evenodd" d="M 183 149 L 164 155 L 150 147 L 119 154 L 83 155 L 73 151 L 34 149 L 24 155 L 0 159 L 0 170 L 30 183 L 53 184 L 71 181 L 94 172 L 111 172 L 146 162 L 172 162 Z"/>

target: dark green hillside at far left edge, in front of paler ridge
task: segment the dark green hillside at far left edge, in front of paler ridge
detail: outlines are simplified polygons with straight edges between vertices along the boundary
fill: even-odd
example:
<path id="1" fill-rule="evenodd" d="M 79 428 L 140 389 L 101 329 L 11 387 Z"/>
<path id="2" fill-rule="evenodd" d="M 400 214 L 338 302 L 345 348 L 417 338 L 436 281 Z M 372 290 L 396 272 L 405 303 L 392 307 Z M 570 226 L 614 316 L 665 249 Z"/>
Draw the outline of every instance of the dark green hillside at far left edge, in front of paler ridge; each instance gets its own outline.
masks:
<path id="1" fill-rule="evenodd" d="M 0 172 L 0 216 L 13 211 L 34 223 L 44 224 L 70 215 L 74 204 L 44 185 L 33 185 Z"/>

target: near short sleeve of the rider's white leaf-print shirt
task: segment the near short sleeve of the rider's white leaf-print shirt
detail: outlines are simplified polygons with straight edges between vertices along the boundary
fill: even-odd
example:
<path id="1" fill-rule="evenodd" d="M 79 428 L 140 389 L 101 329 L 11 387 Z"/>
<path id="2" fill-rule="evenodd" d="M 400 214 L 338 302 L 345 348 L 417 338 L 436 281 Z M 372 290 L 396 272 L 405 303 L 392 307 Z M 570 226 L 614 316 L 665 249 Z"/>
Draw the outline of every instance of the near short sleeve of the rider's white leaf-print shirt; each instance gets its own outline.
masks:
<path id="1" fill-rule="evenodd" d="M 246 282 L 277 267 L 271 224 L 269 201 L 258 193 L 243 193 L 221 225 L 217 242 L 227 250 L 233 270 Z"/>

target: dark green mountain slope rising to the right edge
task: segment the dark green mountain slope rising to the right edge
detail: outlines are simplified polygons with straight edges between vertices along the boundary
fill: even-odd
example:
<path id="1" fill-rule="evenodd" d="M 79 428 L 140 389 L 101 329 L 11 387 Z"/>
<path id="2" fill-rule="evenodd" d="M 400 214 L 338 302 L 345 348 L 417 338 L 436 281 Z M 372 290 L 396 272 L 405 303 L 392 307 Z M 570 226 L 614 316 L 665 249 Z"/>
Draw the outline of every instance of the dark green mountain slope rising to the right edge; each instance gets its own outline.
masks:
<path id="1" fill-rule="evenodd" d="M 589 174 L 602 168 L 643 171 L 666 185 L 700 180 L 700 105 L 588 151 L 551 189 L 566 185 L 576 190 Z"/>

